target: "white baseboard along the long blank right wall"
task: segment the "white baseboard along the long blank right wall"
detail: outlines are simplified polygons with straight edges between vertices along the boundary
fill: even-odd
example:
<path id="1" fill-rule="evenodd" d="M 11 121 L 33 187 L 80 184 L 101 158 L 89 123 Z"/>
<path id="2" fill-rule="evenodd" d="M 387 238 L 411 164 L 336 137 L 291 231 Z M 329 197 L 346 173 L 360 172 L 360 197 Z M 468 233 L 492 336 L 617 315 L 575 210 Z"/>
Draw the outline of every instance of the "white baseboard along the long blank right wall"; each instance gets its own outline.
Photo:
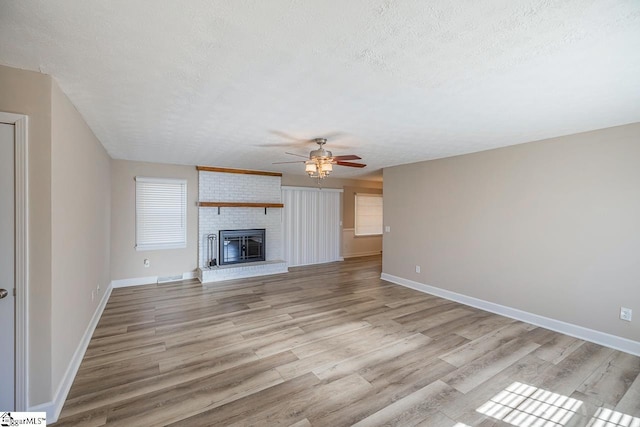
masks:
<path id="1" fill-rule="evenodd" d="M 596 331 L 585 328 L 583 326 L 574 325 L 572 323 L 563 322 L 561 320 L 551 319 L 549 317 L 540 316 L 538 314 L 529 313 L 527 311 L 518 310 L 516 308 L 507 307 L 490 301 L 481 300 L 467 295 L 451 292 L 446 289 L 436 288 L 435 286 L 425 285 L 423 283 L 414 282 L 413 280 L 403 277 L 393 276 L 391 274 L 382 273 L 382 280 L 415 289 L 416 291 L 435 295 L 451 301 L 459 302 L 491 313 L 500 314 L 511 319 L 520 320 L 522 322 L 531 323 L 552 331 L 560 332 L 585 341 L 600 344 L 615 350 L 624 351 L 625 353 L 640 356 L 640 342 L 632 341 L 627 338 L 618 337 L 616 335 L 607 334 L 605 332 Z"/>

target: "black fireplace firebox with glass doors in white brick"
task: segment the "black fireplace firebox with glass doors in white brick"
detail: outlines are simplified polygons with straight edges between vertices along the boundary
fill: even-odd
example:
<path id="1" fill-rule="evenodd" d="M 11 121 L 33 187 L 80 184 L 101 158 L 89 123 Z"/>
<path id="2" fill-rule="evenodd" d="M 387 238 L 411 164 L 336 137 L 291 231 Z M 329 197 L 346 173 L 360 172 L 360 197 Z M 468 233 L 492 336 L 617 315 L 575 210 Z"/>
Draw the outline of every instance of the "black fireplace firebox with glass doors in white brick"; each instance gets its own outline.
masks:
<path id="1" fill-rule="evenodd" d="M 220 265 L 264 261 L 265 229 L 220 230 Z"/>

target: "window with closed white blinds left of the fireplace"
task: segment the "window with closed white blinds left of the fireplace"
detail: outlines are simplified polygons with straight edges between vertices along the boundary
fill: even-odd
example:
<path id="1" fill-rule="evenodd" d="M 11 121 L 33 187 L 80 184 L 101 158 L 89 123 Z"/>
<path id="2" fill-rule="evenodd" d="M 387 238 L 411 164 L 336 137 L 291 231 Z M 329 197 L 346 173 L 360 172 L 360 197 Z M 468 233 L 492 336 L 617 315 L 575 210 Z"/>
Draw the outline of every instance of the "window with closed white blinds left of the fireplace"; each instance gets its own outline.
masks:
<path id="1" fill-rule="evenodd" d="M 136 177 L 136 250 L 187 247 L 187 181 Z"/>

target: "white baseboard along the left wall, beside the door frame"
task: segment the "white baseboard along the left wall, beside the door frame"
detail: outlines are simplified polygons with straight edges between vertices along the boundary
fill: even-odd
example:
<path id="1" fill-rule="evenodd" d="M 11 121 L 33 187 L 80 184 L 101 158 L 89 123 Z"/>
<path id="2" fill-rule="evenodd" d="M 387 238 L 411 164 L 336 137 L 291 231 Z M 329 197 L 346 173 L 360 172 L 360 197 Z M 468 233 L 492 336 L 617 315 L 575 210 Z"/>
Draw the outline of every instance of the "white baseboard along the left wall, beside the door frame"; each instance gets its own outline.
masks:
<path id="1" fill-rule="evenodd" d="M 55 423 L 60 416 L 60 412 L 62 411 L 65 400 L 67 400 L 67 395 L 69 394 L 69 390 L 71 389 L 73 380 L 75 379 L 76 374 L 78 373 L 78 369 L 80 368 L 80 363 L 82 362 L 84 353 L 87 351 L 89 341 L 91 341 L 91 337 L 93 336 L 93 331 L 95 331 L 96 326 L 98 326 L 98 321 L 102 316 L 104 307 L 107 305 L 107 301 L 109 301 L 111 290 L 112 285 L 109 284 L 104 294 L 102 295 L 100 304 L 98 304 L 96 311 L 93 313 L 93 317 L 91 318 L 87 329 L 82 335 L 82 339 L 80 340 L 76 351 L 73 353 L 73 357 L 71 358 L 71 361 L 67 366 L 67 370 L 62 377 L 62 381 L 58 385 L 58 389 L 53 396 L 53 401 L 29 407 L 29 411 L 31 412 L 46 412 L 47 424 Z"/>

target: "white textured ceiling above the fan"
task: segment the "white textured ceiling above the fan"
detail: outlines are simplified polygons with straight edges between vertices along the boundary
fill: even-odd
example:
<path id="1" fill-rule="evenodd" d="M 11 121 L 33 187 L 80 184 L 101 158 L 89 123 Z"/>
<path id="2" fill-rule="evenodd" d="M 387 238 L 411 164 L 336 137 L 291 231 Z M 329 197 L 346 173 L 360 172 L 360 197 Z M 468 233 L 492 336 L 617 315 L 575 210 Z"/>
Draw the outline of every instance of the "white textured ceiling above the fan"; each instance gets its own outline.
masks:
<path id="1" fill-rule="evenodd" d="M 334 135 L 373 178 L 640 121 L 640 1 L 3 0 L 0 64 L 113 158 L 304 173 L 283 144 Z"/>

